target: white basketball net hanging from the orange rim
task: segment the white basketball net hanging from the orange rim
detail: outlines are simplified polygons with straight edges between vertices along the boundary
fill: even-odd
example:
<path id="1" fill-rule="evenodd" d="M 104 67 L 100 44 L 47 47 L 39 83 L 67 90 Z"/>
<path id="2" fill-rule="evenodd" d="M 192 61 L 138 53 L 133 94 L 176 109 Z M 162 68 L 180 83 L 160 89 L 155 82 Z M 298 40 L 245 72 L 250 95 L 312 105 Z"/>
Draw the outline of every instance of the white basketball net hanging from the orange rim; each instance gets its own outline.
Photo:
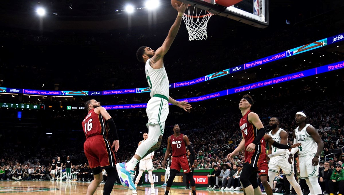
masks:
<path id="1" fill-rule="evenodd" d="M 201 10 L 201 11 L 200 11 Z M 186 25 L 187 32 L 189 33 L 189 41 L 206 39 L 207 24 L 210 17 L 214 15 L 205 10 L 194 7 L 190 12 L 190 6 L 187 7 L 187 14 L 183 14 L 183 20 Z"/>

